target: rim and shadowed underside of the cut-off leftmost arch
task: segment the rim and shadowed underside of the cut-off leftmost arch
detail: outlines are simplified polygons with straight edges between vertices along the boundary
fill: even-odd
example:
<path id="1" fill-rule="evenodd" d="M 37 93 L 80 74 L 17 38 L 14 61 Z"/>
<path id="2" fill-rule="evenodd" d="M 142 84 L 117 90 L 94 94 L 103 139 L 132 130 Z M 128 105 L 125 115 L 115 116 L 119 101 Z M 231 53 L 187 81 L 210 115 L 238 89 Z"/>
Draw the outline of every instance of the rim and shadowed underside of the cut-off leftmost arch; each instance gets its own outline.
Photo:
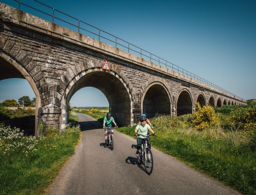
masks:
<path id="1" fill-rule="evenodd" d="M 0 53 L 0 80 L 11 79 L 11 78 L 22 78 L 26 79 L 31 86 L 36 96 L 36 107 L 35 107 L 35 136 L 40 135 L 40 112 L 39 109 L 42 106 L 41 97 L 35 81 L 30 76 L 25 68 L 20 65 L 16 60 L 6 55 L 4 52 Z"/>

